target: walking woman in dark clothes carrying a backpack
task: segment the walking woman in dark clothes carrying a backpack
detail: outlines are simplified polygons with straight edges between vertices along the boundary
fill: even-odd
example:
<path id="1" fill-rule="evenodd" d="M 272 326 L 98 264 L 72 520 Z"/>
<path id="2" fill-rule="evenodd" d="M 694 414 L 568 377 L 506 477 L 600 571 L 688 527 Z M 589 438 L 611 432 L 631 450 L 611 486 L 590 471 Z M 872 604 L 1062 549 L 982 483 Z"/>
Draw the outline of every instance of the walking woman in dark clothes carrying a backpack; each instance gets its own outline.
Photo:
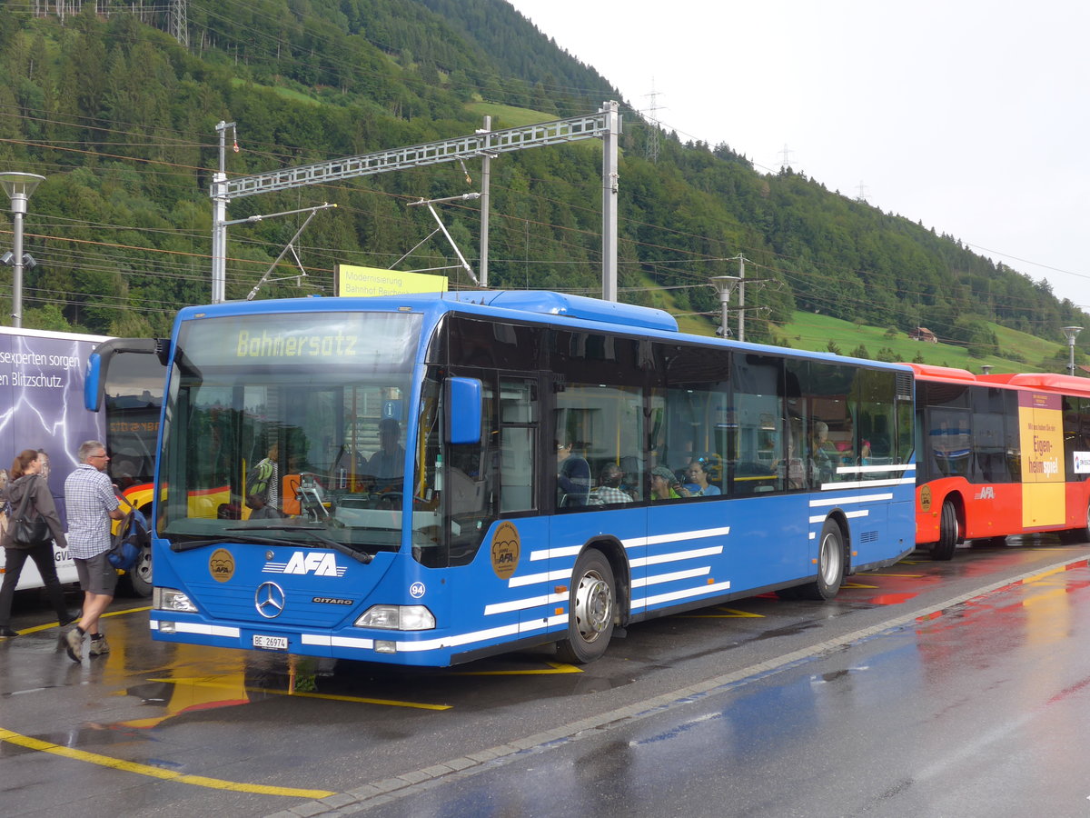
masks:
<path id="1" fill-rule="evenodd" d="M 64 529 L 61 527 L 60 515 L 57 514 L 53 495 L 40 474 L 44 461 L 44 453 L 33 448 L 20 452 L 11 465 L 9 483 L 0 493 L 10 508 L 8 528 L 0 537 L 4 550 L 3 585 L 0 586 L 0 637 L 19 636 L 19 631 L 11 628 L 11 601 L 27 557 L 38 566 L 38 574 L 41 575 L 60 624 L 68 625 L 80 617 L 78 611 L 68 610 L 64 591 L 57 579 L 52 541 L 56 540 L 62 549 L 68 548 L 68 542 L 64 540 Z M 44 520 L 44 524 L 39 520 Z"/>

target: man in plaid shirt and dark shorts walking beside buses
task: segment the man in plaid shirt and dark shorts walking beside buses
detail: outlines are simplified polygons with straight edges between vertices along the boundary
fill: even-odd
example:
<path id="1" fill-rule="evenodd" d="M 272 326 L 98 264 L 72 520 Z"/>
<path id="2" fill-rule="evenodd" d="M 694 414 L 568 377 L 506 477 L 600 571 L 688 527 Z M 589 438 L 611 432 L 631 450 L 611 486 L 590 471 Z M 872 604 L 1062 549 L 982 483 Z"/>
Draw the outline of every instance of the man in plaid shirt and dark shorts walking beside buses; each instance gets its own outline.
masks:
<path id="1" fill-rule="evenodd" d="M 83 588 L 83 616 L 64 635 L 65 650 L 73 662 L 83 661 L 83 638 L 90 634 L 90 654 L 110 650 L 106 636 L 98 630 L 98 617 L 113 601 L 118 573 L 107 558 L 110 553 L 110 520 L 124 514 L 106 473 L 110 458 L 99 441 L 80 446 L 80 465 L 64 481 L 64 503 L 68 507 L 69 553 L 80 575 Z"/>

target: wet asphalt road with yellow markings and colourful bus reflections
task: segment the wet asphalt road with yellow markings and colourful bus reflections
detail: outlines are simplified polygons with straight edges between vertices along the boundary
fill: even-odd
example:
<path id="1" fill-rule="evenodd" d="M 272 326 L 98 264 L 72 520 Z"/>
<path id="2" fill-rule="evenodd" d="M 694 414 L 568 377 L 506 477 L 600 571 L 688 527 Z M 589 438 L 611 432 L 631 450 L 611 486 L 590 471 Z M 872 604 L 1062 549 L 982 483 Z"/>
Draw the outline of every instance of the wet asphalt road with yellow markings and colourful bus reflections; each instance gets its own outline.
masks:
<path id="1" fill-rule="evenodd" d="M 920 556 L 828 603 L 638 625 L 582 669 L 161 645 L 141 600 L 76 665 L 24 594 L 24 635 L 0 640 L 0 814 L 1085 815 L 1088 554 Z"/>

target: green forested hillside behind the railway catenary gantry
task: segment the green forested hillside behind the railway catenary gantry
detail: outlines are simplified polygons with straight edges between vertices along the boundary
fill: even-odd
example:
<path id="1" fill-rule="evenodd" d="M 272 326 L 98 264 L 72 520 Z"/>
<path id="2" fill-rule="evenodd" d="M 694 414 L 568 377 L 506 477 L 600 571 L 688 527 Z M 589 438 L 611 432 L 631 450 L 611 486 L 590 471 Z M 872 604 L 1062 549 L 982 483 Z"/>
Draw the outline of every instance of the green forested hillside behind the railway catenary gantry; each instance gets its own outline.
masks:
<path id="1" fill-rule="evenodd" d="M 38 266 L 25 275 L 24 325 L 161 334 L 179 306 L 209 299 L 219 121 L 237 123 L 239 151 L 226 159 L 233 176 L 464 135 L 482 113 L 498 129 L 514 124 L 504 119 L 513 109 L 547 120 L 618 98 L 502 0 L 187 9 L 183 47 L 165 19 L 121 2 L 84 3 L 63 19 L 0 7 L 0 170 L 47 178 L 25 224 Z M 661 134 L 652 161 L 649 127 L 622 111 L 622 300 L 706 313 L 710 328 L 718 304 L 708 277 L 737 273 L 743 255 L 752 338 L 788 342 L 775 326 L 804 310 L 903 332 L 924 325 L 985 353 L 996 342 L 988 322 L 1058 341 L 1061 326 L 1086 318 L 1046 284 L 952 237 L 789 170 L 756 172 L 727 144 Z M 491 286 L 601 291 L 601 154 L 580 143 L 493 163 Z M 456 264 L 441 234 L 428 239 L 431 215 L 408 204 L 476 191 L 479 177 L 479 163 L 420 168 L 240 199 L 228 218 L 336 203 L 294 242 L 306 276 L 261 297 L 328 293 L 337 263 Z M 475 266 L 476 205 L 441 213 Z M 250 291 L 304 218 L 231 227 L 229 298 Z M 288 260 L 275 277 L 300 272 Z M 471 286 L 447 273 L 452 286 Z M 10 279 L 0 278 L 0 301 L 10 301 Z M 1080 340 L 1090 349 L 1090 333 Z"/>

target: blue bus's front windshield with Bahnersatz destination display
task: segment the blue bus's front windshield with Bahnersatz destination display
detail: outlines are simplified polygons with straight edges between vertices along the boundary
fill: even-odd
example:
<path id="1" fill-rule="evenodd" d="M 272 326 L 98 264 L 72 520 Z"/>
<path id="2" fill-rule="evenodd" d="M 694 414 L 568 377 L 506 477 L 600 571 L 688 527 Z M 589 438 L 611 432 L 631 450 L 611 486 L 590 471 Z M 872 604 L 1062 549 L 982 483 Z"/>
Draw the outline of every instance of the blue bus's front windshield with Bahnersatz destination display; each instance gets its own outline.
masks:
<path id="1" fill-rule="evenodd" d="M 340 312 L 186 322 L 160 536 L 396 551 L 421 325 L 420 314 Z"/>

